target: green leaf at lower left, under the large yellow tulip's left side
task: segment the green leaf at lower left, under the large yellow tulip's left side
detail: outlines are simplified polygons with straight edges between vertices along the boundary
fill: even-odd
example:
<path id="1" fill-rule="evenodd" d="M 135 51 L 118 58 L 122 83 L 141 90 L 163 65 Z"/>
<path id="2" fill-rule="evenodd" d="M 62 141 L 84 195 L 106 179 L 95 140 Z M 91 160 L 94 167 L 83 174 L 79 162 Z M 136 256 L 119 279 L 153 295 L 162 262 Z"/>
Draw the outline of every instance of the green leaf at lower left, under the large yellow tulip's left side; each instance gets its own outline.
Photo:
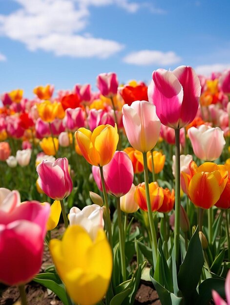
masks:
<path id="1" fill-rule="evenodd" d="M 69 304 L 63 282 L 57 273 L 40 273 L 33 278 L 33 281 L 52 290 L 63 302 L 63 305 Z"/>

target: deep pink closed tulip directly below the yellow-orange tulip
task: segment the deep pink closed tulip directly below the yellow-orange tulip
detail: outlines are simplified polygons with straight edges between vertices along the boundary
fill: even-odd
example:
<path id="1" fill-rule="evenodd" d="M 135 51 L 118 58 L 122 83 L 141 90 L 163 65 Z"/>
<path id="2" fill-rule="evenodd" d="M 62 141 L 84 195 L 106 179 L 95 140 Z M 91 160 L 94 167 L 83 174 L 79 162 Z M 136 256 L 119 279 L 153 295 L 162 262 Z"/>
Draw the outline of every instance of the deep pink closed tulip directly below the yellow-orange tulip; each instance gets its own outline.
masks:
<path id="1" fill-rule="evenodd" d="M 133 182 L 132 161 L 126 152 L 115 152 L 112 160 L 103 167 L 109 192 L 116 197 L 124 196 Z"/>

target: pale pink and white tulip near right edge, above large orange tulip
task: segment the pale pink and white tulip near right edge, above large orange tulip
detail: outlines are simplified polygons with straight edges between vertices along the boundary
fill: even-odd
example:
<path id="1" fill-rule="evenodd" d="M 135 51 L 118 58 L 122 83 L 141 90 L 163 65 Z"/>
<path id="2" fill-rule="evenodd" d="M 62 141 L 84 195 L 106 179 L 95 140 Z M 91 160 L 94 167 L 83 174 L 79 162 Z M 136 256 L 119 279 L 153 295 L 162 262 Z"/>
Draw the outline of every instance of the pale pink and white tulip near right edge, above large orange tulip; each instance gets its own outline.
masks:
<path id="1" fill-rule="evenodd" d="M 224 132 L 219 127 L 201 125 L 188 129 L 194 154 L 201 160 L 213 161 L 219 158 L 224 146 Z"/>

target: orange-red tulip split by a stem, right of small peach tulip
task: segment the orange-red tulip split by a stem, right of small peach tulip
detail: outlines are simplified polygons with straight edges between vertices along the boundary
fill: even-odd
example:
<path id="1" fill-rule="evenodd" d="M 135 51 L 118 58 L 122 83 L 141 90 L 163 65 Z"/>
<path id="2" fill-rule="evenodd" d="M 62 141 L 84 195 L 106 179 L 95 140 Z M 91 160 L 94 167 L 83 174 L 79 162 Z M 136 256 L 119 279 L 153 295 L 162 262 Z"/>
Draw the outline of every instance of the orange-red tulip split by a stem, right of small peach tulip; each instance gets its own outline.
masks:
<path id="1" fill-rule="evenodd" d="M 159 210 L 163 204 L 163 200 L 164 200 L 163 189 L 159 187 L 157 182 L 151 182 L 149 184 L 149 194 L 150 194 L 151 210 L 152 212 L 155 212 Z M 134 200 L 142 210 L 144 211 L 148 210 L 146 203 L 146 187 L 144 182 L 136 187 L 134 193 Z"/>

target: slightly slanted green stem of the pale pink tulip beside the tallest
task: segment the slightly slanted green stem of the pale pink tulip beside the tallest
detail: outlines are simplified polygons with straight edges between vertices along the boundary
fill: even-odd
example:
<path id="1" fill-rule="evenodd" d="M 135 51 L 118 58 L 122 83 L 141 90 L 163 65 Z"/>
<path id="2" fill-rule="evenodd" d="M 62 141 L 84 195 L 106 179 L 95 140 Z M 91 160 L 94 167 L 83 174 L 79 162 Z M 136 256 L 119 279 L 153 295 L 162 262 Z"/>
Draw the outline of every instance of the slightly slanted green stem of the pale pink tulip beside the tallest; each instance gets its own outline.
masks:
<path id="1" fill-rule="evenodd" d="M 149 194 L 149 186 L 148 186 L 147 153 L 146 152 L 143 152 L 143 159 L 144 159 L 144 175 L 145 175 L 145 187 L 146 187 L 146 202 L 147 202 L 147 209 L 148 209 L 149 226 L 150 226 L 151 237 L 152 237 L 153 265 L 155 268 L 156 261 L 157 261 L 157 236 L 156 236 L 156 230 L 155 230 L 155 226 L 154 226 L 154 222 L 153 222 L 151 202 L 150 202 L 150 194 Z"/>

